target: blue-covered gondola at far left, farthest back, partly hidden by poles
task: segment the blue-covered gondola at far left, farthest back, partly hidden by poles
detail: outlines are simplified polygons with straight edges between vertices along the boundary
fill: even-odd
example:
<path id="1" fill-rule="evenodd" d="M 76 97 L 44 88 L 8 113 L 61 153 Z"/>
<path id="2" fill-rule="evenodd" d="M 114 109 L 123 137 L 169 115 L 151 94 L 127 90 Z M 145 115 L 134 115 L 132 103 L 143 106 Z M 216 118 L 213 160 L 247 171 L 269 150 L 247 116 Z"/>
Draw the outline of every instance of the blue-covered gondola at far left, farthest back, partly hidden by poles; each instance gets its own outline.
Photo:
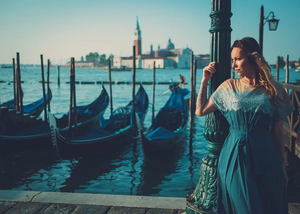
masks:
<path id="1" fill-rule="evenodd" d="M 49 92 L 49 99 L 52 99 L 51 90 Z M 47 101 L 48 93 L 46 93 L 46 102 Z M 1 106 L 8 107 L 9 109 L 15 109 L 14 98 L 2 103 Z M 43 97 L 27 105 L 23 105 L 23 111 L 24 113 L 30 114 L 31 116 L 39 116 L 39 114 L 43 111 Z"/>

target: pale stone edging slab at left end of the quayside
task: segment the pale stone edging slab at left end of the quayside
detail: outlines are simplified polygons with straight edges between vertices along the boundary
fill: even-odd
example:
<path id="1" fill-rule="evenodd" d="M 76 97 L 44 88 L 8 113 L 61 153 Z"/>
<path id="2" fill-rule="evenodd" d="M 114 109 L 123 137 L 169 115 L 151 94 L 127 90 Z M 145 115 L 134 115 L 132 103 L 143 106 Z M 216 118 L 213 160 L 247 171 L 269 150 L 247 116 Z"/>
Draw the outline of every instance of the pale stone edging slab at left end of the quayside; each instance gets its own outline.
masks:
<path id="1" fill-rule="evenodd" d="M 32 198 L 41 193 L 40 191 L 18 191 L 18 190 L 0 190 L 0 200 L 5 201 L 31 201 Z"/>

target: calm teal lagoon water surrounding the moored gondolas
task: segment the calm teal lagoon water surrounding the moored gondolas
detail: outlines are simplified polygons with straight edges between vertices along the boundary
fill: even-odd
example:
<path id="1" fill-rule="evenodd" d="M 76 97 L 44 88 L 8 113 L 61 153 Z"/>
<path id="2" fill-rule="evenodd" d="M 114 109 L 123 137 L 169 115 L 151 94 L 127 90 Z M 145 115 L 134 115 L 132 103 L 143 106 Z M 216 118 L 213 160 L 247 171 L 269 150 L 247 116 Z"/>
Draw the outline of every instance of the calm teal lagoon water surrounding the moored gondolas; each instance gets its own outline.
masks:
<path id="1" fill-rule="evenodd" d="M 156 81 L 169 81 L 170 78 L 177 81 L 178 75 L 181 74 L 189 83 L 189 72 L 187 69 L 157 69 Z M 198 69 L 196 91 L 201 76 L 202 69 Z M 280 69 L 279 76 L 280 81 L 285 80 L 284 69 Z M 132 81 L 132 72 L 112 72 L 111 78 L 113 81 Z M 290 82 L 295 82 L 300 78 L 300 73 L 291 69 L 289 78 Z M 12 69 L 0 69 L 0 80 L 11 81 Z M 38 82 L 41 80 L 40 69 L 21 69 L 21 80 L 24 81 L 24 104 L 42 97 L 42 86 Z M 108 81 L 108 72 L 102 69 L 76 69 L 76 81 L 101 80 Z M 57 86 L 56 69 L 50 69 L 50 81 L 53 93 L 51 112 L 61 116 L 69 107 L 69 84 L 65 84 L 69 81 L 69 69 L 60 69 L 60 87 Z M 152 70 L 136 70 L 136 81 L 152 81 Z M 109 85 L 104 86 L 109 91 Z M 152 102 L 152 85 L 143 86 L 149 101 Z M 76 84 L 77 105 L 93 101 L 100 89 L 100 84 Z M 159 96 L 166 89 L 167 85 L 155 86 L 155 114 L 168 99 L 168 94 Z M 113 106 L 127 104 L 131 99 L 131 91 L 132 85 L 112 85 Z M 1 102 L 12 97 L 12 84 L 0 83 Z M 109 116 L 109 112 L 107 108 L 105 118 Z M 149 105 L 144 121 L 145 128 L 151 124 L 151 112 Z M 115 153 L 72 159 L 60 159 L 55 150 L 4 154 L 0 156 L 0 189 L 183 197 L 195 188 L 201 158 L 208 153 L 205 150 L 207 141 L 202 135 L 203 125 L 204 117 L 196 117 L 196 131 L 191 149 L 188 140 L 185 140 L 180 148 L 155 161 L 143 157 L 138 141 Z"/>

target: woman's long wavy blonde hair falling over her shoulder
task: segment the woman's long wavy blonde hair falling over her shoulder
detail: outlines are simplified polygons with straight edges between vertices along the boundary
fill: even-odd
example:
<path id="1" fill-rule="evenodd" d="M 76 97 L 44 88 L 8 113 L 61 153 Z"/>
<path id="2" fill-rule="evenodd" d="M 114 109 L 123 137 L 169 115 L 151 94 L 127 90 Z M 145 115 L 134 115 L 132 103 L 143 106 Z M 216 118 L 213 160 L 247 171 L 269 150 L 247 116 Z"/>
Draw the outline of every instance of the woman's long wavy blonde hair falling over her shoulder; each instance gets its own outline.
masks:
<path id="1" fill-rule="evenodd" d="M 231 51 L 234 47 L 240 48 L 241 51 L 247 56 L 249 62 L 255 65 L 258 82 L 268 92 L 270 101 L 276 105 L 279 105 L 278 92 L 275 87 L 276 80 L 274 76 L 271 75 L 271 68 L 266 63 L 257 41 L 252 37 L 244 37 L 233 42 Z"/>

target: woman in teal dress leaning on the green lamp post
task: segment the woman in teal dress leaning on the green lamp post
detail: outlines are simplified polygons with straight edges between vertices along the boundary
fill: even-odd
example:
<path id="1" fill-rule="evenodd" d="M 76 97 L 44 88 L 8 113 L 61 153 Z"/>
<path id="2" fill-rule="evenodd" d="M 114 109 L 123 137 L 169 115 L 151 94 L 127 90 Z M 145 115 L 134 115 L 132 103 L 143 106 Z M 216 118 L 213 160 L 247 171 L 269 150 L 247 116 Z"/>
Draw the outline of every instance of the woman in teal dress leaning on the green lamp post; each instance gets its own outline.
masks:
<path id="1" fill-rule="evenodd" d="M 287 213 L 283 120 L 294 107 L 254 38 L 235 40 L 232 67 L 240 77 L 227 79 L 207 99 L 215 62 L 203 69 L 196 115 L 222 112 L 230 125 L 218 163 L 217 213 Z"/>

